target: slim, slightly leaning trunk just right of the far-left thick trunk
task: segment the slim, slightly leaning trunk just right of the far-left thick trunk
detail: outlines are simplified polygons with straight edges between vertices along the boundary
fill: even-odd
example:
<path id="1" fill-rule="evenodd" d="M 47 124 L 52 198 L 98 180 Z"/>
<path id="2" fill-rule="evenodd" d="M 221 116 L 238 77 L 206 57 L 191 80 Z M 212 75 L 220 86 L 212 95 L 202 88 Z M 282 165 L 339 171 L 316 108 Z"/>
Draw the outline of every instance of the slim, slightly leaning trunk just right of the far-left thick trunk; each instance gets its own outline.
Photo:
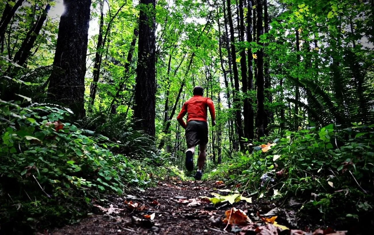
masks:
<path id="1" fill-rule="evenodd" d="M 99 64 L 102 57 L 102 31 L 104 28 L 104 0 L 100 1 L 100 23 L 99 23 L 99 36 L 97 39 L 97 45 L 96 45 L 96 55 L 95 55 L 95 62 L 93 64 L 93 77 L 92 77 L 92 83 L 90 87 L 90 103 L 93 105 L 95 102 L 95 95 L 96 95 L 96 88 L 97 83 L 99 81 L 100 76 L 100 68 Z"/>

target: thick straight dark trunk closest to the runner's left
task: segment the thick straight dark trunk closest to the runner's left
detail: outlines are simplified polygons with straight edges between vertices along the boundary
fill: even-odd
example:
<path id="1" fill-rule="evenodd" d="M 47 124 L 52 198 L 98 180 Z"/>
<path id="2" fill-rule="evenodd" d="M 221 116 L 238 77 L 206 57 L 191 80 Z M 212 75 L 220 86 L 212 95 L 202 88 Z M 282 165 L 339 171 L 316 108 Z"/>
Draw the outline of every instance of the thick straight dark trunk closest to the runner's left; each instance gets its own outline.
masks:
<path id="1" fill-rule="evenodd" d="M 137 83 L 134 117 L 137 127 L 155 136 L 156 118 L 156 0 L 140 0 Z"/>

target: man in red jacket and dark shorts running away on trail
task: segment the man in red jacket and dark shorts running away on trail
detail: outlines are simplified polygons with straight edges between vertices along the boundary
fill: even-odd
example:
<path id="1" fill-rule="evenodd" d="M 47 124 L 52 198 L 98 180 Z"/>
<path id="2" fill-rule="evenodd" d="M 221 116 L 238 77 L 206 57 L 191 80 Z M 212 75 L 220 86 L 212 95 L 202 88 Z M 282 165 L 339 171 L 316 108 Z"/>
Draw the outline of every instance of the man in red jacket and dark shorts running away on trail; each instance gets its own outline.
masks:
<path id="1" fill-rule="evenodd" d="M 201 86 L 193 88 L 193 97 L 183 104 L 177 120 L 179 124 L 186 129 L 186 168 L 188 171 L 193 170 L 193 156 L 195 154 L 195 146 L 199 144 L 199 165 L 195 174 L 196 180 L 201 180 L 203 165 L 206 158 L 206 144 L 208 143 L 208 108 L 212 117 L 212 126 L 215 126 L 215 110 L 213 101 L 210 98 L 203 97 L 204 89 Z M 187 125 L 183 120 L 187 113 Z"/>

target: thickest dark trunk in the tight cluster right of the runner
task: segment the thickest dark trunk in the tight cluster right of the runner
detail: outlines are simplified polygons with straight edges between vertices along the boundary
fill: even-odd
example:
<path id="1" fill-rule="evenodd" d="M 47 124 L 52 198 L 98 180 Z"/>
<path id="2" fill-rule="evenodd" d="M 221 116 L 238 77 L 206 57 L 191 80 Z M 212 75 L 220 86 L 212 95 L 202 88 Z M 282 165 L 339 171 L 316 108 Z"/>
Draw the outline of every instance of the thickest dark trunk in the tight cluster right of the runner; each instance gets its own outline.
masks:
<path id="1" fill-rule="evenodd" d="M 257 140 L 265 135 L 266 129 L 266 113 L 264 108 L 264 58 L 263 58 L 263 43 L 260 42 L 260 37 L 263 34 L 262 25 L 262 0 L 257 0 L 257 44 L 261 47 L 257 52 L 257 113 L 256 113 L 256 128 L 257 128 Z"/>

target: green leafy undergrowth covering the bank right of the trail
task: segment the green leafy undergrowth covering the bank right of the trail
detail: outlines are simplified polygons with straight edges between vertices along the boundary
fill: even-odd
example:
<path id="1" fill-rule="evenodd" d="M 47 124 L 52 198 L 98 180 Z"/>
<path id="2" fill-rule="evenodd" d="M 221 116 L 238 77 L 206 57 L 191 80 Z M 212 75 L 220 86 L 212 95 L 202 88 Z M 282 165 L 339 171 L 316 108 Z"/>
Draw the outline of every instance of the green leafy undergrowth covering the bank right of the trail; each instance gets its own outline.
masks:
<path id="1" fill-rule="evenodd" d="M 373 213 L 373 128 L 353 123 L 352 128 L 339 129 L 330 124 L 266 137 L 263 141 L 270 143 L 253 147 L 252 153 L 238 152 L 204 178 L 240 184 L 258 199 L 296 197 L 300 213 L 320 219 L 357 222 Z"/>

